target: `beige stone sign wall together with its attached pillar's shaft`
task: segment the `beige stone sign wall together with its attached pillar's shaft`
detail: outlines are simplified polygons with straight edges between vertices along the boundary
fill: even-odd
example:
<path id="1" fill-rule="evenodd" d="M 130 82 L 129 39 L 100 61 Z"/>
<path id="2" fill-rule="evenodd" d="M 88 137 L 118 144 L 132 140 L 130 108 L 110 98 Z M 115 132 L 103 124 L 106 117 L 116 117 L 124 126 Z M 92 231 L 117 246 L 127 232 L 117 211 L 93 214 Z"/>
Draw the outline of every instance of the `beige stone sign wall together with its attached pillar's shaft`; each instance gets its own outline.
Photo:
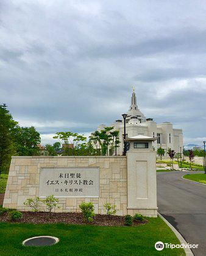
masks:
<path id="1" fill-rule="evenodd" d="M 156 217 L 156 191 L 151 145 L 131 147 L 127 157 L 12 157 L 3 206 L 28 211 L 27 198 L 54 194 L 60 206 L 55 212 L 80 212 L 82 202 L 93 202 L 94 212 L 105 214 L 110 202 L 116 215 Z"/>

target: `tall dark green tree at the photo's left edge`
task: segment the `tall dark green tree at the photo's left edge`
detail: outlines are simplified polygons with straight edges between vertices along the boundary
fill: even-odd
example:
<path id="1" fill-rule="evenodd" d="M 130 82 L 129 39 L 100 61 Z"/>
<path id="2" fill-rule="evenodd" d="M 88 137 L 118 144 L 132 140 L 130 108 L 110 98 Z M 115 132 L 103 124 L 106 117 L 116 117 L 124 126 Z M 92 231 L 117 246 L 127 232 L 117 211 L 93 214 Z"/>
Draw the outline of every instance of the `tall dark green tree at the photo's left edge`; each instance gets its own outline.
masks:
<path id="1" fill-rule="evenodd" d="M 0 105 L 0 177 L 1 172 L 8 172 L 12 155 L 16 154 L 15 141 L 11 131 L 18 124 L 14 121 L 7 105 Z"/>

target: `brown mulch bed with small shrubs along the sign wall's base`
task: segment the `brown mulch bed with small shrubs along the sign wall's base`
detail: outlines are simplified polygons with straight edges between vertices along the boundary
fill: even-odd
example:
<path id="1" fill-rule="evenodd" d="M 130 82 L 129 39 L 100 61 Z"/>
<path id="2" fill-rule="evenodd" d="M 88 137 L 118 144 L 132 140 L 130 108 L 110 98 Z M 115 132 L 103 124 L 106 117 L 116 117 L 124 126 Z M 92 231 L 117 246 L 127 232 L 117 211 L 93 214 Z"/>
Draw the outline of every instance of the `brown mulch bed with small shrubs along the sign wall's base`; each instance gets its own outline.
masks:
<path id="1" fill-rule="evenodd" d="M 10 221 L 7 213 L 0 215 L 0 222 L 15 222 L 15 223 L 34 223 L 34 224 L 52 224 L 52 223 L 65 223 L 65 224 L 88 224 L 83 220 L 82 213 L 49 213 L 47 212 L 22 212 L 23 217 L 16 221 Z M 139 226 L 146 224 L 148 221 L 133 221 L 133 226 Z M 89 223 L 90 225 L 97 226 L 124 226 L 124 216 L 110 216 L 96 215 L 94 221 Z"/>

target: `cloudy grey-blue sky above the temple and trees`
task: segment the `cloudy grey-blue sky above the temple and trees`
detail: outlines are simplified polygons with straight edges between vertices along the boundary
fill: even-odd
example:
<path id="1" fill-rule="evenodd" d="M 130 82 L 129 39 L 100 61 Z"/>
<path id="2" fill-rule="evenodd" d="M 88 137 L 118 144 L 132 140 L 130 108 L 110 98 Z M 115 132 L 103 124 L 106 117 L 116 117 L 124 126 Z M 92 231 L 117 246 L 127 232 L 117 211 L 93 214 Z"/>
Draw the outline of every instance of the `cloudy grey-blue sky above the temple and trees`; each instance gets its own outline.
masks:
<path id="1" fill-rule="evenodd" d="M 127 111 L 206 137 L 206 2 L 1 0 L 0 102 L 42 143 Z"/>

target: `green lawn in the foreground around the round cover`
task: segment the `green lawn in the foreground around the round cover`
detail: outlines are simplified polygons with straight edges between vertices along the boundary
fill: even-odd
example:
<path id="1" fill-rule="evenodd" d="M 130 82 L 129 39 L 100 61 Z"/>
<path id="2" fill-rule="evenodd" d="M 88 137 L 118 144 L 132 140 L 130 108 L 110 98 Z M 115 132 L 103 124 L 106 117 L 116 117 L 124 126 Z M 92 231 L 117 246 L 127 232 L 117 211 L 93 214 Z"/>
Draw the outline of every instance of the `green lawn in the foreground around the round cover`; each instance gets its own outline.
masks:
<path id="1" fill-rule="evenodd" d="M 160 218 L 134 227 L 101 227 L 66 224 L 0 223 L 0 252 L 4 256 L 182 256 L 183 249 L 156 251 L 157 241 L 179 244 L 174 233 Z M 51 235 L 59 243 L 48 247 L 24 247 L 22 241 L 31 236 Z"/>

